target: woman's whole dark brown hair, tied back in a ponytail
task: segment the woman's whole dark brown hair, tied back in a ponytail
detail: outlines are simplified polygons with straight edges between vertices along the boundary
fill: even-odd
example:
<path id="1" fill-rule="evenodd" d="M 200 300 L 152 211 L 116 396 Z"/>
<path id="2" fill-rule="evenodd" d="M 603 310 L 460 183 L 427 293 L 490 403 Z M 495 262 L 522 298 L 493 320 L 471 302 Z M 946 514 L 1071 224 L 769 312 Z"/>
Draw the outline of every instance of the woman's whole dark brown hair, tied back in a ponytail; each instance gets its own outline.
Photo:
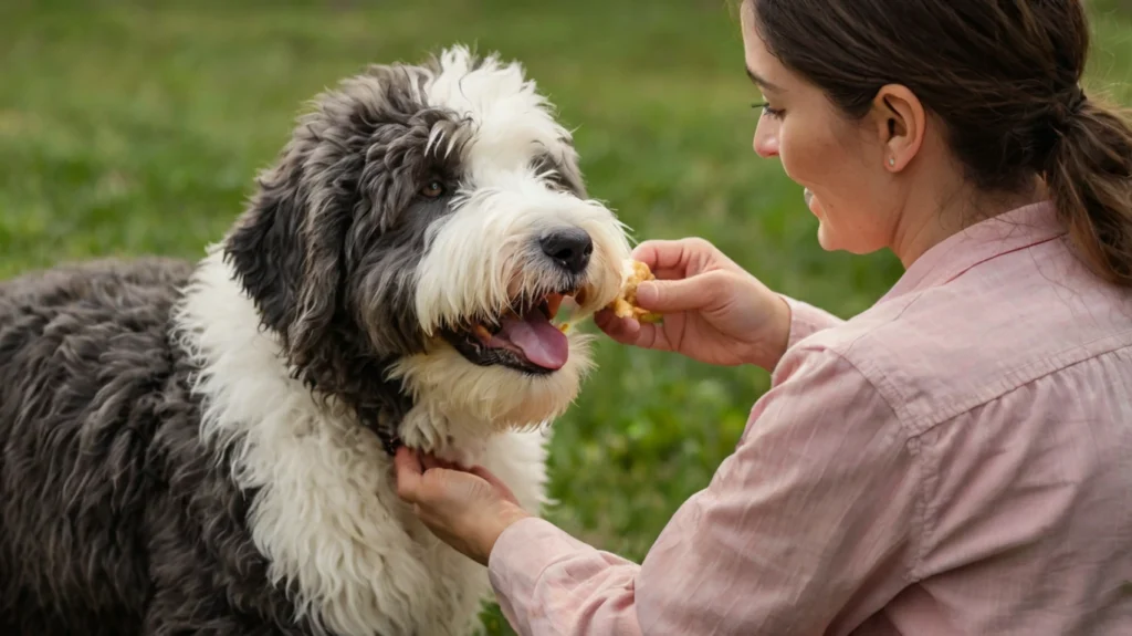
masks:
<path id="1" fill-rule="evenodd" d="M 746 1 L 770 51 L 848 117 L 900 84 L 944 122 L 979 189 L 1043 177 L 1084 261 L 1132 286 L 1132 129 L 1081 89 L 1079 0 Z"/>

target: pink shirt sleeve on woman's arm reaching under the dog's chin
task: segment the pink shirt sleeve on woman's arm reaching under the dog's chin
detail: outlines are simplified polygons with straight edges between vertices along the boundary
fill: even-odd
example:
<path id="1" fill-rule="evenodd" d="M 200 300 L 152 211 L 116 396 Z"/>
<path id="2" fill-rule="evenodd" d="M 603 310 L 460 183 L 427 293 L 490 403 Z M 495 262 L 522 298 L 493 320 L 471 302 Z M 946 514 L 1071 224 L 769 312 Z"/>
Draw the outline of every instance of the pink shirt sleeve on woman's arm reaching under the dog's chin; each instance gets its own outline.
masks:
<path id="1" fill-rule="evenodd" d="M 887 402 L 825 351 L 788 353 L 736 452 L 641 566 L 541 519 L 489 569 L 523 635 L 824 634 L 908 583 L 918 474 Z"/>

